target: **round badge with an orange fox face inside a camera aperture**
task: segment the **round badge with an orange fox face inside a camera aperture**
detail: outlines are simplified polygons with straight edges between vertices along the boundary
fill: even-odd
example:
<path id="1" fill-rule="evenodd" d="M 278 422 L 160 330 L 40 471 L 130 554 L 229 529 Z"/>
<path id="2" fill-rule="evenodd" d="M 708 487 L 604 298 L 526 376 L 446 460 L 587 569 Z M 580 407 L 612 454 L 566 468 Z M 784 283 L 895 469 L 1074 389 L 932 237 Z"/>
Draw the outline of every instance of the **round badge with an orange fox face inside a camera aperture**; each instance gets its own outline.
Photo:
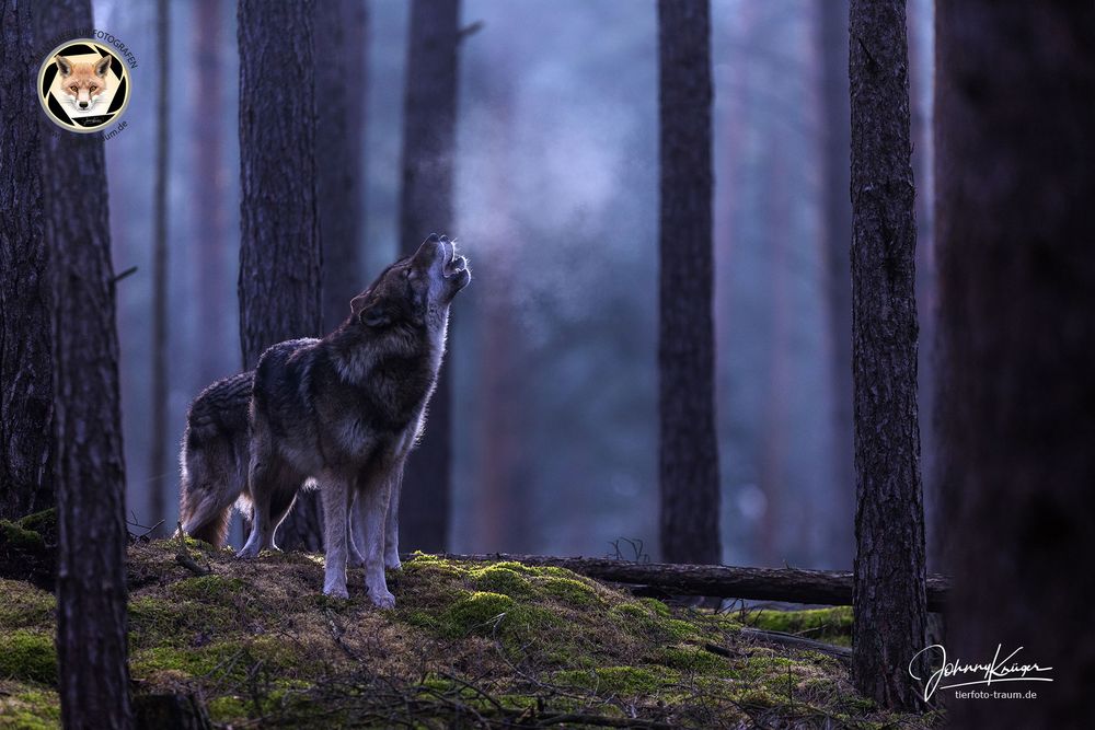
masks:
<path id="1" fill-rule="evenodd" d="M 38 101 L 69 131 L 100 131 L 129 104 L 129 69 L 110 48 L 81 38 L 57 46 L 42 61 Z"/>

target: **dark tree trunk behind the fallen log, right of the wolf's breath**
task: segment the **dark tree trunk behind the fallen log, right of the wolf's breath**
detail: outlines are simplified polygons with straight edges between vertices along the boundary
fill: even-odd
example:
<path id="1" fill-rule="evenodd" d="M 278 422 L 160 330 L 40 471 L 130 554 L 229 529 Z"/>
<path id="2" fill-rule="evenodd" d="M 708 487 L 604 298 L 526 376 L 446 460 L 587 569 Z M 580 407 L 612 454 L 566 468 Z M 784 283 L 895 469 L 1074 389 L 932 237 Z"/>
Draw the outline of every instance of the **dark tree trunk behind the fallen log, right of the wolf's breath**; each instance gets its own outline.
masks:
<path id="1" fill-rule="evenodd" d="M 661 557 L 673 563 L 722 558 L 711 299 L 710 49 L 707 0 L 659 0 L 658 475 Z"/>

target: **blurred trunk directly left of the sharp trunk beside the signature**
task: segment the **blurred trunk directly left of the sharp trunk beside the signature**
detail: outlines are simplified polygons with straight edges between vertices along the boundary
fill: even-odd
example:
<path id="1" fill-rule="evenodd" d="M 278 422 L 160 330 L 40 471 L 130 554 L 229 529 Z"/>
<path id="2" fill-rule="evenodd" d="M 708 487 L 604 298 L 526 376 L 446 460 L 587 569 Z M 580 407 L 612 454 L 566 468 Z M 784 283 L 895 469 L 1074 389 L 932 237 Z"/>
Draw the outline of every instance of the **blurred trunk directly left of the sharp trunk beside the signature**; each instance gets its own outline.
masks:
<path id="1" fill-rule="evenodd" d="M 832 486 L 837 519 L 826 525 L 829 559 L 852 563 L 855 471 L 852 464 L 852 205 L 849 158 L 852 140 L 848 86 L 848 0 L 817 3 L 821 54 L 821 215 L 832 378 Z"/>

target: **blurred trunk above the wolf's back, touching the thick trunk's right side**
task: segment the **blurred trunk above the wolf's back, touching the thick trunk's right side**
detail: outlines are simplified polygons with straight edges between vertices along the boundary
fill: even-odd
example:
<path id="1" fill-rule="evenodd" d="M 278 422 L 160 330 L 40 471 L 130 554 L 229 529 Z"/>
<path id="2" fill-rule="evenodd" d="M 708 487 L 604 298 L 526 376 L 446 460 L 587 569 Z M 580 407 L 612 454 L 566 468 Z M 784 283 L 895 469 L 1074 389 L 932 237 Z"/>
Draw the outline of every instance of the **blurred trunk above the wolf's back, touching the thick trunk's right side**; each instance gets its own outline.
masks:
<path id="1" fill-rule="evenodd" d="M 349 315 L 361 283 L 365 174 L 361 166 L 367 89 L 347 93 L 348 78 L 368 78 L 365 0 L 326 0 L 315 8 L 316 181 L 323 241 L 323 329 Z"/>

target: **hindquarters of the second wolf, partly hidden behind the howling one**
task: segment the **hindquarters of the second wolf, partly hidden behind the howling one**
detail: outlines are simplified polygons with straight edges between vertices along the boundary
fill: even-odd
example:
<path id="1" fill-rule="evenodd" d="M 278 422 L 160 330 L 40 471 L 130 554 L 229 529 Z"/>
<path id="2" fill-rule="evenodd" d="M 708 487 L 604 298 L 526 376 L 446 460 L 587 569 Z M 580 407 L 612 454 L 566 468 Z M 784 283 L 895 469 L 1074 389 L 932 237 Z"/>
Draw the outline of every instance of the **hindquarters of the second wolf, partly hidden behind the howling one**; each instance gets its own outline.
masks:
<path id="1" fill-rule="evenodd" d="M 247 409 L 254 372 L 217 381 L 191 405 L 178 455 L 182 467 L 178 520 L 183 532 L 224 544 L 232 506 L 246 494 L 250 425 Z"/>

